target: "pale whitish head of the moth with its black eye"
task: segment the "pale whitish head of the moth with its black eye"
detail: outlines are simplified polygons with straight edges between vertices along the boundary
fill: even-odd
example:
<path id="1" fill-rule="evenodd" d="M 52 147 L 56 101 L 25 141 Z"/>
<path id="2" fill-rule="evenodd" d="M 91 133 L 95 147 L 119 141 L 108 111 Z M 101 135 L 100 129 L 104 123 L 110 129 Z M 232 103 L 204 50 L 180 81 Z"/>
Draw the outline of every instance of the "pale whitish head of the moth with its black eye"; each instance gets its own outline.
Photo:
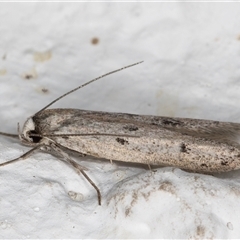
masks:
<path id="1" fill-rule="evenodd" d="M 39 143 L 42 137 L 33 136 L 33 134 L 38 134 L 38 131 L 36 130 L 36 124 L 33 120 L 33 117 L 30 117 L 24 123 L 22 133 L 19 134 L 19 138 L 25 144 L 34 145 Z"/>

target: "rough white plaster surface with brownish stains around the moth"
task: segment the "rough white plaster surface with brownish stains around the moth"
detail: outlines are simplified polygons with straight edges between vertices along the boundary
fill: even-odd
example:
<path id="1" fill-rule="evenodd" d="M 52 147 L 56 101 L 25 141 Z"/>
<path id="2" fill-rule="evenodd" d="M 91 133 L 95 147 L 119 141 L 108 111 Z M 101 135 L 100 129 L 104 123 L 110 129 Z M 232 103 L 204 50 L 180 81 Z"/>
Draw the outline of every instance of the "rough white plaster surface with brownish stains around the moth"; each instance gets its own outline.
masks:
<path id="1" fill-rule="evenodd" d="M 239 3 L 1 3 L 0 131 L 53 107 L 240 122 Z M 28 150 L 0 138 L 0 161 Z M 103 195 L 38 153 L 0 169 L 0 238 L 239 238 L 240 171 L 77 158 Z"/>

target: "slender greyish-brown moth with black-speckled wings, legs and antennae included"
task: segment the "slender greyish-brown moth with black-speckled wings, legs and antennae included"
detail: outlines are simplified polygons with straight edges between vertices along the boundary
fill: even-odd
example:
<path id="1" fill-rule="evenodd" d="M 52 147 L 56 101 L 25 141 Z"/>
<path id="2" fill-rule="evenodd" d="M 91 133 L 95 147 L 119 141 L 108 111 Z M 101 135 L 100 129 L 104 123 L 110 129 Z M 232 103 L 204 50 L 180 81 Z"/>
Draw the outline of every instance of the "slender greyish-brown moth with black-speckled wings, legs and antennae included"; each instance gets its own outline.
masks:
<path id="1" fill-rule="evenodd" d="M 174 166 L 194 172 L 226 172 L 240 168 L 240 124 L 211 120 L 170 118 L 79 109 L 47 109 L 68 94 L 110 74 L 141 62 L 106 73 L 58 97 L 29 117 L 18 135 L 32 147 L 22 156 L 0 166 L 26 159 L 36 151 L 56 155 L 73 166 L 95 188 L 98 204 L 101 193 L 84 166 L 69 152 L 110 161 Z"/>

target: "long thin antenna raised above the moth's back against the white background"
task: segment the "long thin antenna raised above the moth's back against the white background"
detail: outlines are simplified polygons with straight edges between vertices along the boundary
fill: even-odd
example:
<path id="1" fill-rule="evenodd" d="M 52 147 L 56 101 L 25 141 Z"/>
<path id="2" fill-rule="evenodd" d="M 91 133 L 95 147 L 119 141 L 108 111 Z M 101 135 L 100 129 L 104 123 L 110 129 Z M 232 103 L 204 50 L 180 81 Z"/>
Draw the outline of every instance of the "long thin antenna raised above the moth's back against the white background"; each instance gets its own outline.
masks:
<path id="1" fill-rule="evenodd" d="M 92 79 L 92 80 L 90 80 L 90 81 L 88 81 L 88 82 L 86 82 L 86 83 L 84 83 L 84 84 L 82 84 L 82 85 L 80 85 L 80 86 L 74 88 L 73 90 L 71 90 L 71 91 L 69 91 L 69 92 L 67 92 L 67 93 L 65 93 L 65 94 L 63 94 L 63 95 L 61 95 L 60 97 L 56 98 L 55 100 L 53 100 L 52 102 L 50 102 L 47 106 L 45 106 L 45 107 L 42 108 L 40 111 L 38 111 L 37 113 L 35 113 L 35 115 L 41 113 L 42 111 L 44 111 L 46 108 L 48 108 L 49 106 L 51 106 L 52 104 L 54 104 L 55 102 L 57 102 L 58 100 L 60 100 L 61 98 L 63 98 L 63 97 L 65 97 L 65 96 L 69 95 L 70 93 L 73 93 L 73 92 L 77 91 L 77 90 L 80 89 L 80 88 L 85 87 L 86 85 L 88 85 L 88 84 L 90 84 L 90 83 L 92 83 L 92 82 L 95 82 L 95 81 L 97 81 L 97 80 L 99 80 L 99 79 L 101 79 L 101 78 L 104 78 L 104 77 L 106 77 L 106 76 L 108 76 L 108 75 L 111 75 L 111 74 L 113 74 L 113 73 L 116 73 L 116 72 L 122 71 L 122 70 L 124 70 L 124 69 L 126 69 L 126 68 L 130 68 L 130 67 L 133 67 L 133 66 L 135 66 L 135 65 L 138 65 L 138 64 L 140 64 L 140 63 L 142 63 L 142 62 L 143 62 L 143 61 L 141 61 L 141 62 L 137 62 L 137 63 L 131 64 L 131 65 L 128 65 L 128 66 L 125 66 L 125 67 L 119 68 L 119 69 L 117 69 L 117 70 L 114 70 L 114 71 L 108 72 L 108 73 L 106 73 L 106 74 L 103 74 L 103 75 L 100 76 L 100 77 L 94 78 L 94 79 Z"/>

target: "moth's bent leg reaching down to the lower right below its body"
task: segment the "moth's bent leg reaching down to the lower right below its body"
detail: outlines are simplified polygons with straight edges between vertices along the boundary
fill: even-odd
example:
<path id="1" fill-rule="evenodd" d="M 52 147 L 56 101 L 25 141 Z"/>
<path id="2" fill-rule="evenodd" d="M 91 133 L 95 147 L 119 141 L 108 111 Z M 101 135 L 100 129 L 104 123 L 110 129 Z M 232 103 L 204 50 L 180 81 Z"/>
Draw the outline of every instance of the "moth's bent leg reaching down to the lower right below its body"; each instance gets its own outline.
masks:
<path id="1" fill-rule="evenodd" d="M 95 188 L 95 190 L 97 191 L 97 196 L 98 196 L 98 204 L 101 205 L 101 193 L 100 190 L 98 189 L 98 187 L 96 186 L 96 184 L 91 180 L 91 178 L 84 172 L 84 167 L 82 167 L 80 164 L 76 163 L 75 161 L 73 161 L 69 155 L 64 152 L 61 149 L 61 146 L 54 144 L 50 145 L 51 148 L 58 154 L 60 155 L 66 162 L 70 163 L 74 169 L 76 170 L 76 172 L 79 174 L 81 173 L 86 179 L 87 181 Z"/>

